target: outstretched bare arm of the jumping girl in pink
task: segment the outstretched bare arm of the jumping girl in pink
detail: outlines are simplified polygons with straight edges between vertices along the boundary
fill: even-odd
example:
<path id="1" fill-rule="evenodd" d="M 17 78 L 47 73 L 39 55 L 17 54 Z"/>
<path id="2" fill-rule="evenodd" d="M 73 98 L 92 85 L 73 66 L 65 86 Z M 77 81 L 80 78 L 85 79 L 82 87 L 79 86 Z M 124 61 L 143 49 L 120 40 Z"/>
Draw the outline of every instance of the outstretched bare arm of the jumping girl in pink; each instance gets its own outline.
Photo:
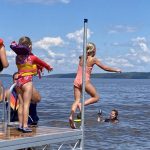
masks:
<path id="1" fill-rule="evenodd" d="M 106 66 L 104 64 L 102 64 L 100 62 L 100 60 L 98 60 L 97 58 L 94 58 L 94 64 L 96 64 L 98 67 L 100 67 L 101 69 L 105 70 L 105 71 L 109 71 L 109 72 L 119 72 L 121 73 L 121 70 L 120 69 L 115 69 L 115 68 L 111 68 L 109 66 Z"/>

